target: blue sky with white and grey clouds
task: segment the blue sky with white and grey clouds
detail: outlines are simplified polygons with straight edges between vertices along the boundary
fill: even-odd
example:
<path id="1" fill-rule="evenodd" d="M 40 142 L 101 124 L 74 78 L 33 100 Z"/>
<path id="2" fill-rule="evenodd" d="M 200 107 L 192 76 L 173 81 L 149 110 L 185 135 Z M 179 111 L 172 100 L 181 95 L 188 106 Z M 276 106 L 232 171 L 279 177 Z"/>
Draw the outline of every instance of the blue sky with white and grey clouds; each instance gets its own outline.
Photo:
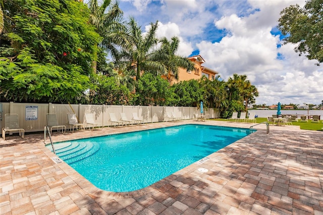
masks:
<path id="1" fill-rule="evenodd" d="M 277 29 L 280 12 L 295 4 L 305 1 L 120 0 L 119 7 L 143 32 L 158 21 L 158 38 L 179 36 L 177 54 L 200 55 L 223 80 L 247 75 L 256 104 L 320 104 L 323 65 L 299 56 Z"/>

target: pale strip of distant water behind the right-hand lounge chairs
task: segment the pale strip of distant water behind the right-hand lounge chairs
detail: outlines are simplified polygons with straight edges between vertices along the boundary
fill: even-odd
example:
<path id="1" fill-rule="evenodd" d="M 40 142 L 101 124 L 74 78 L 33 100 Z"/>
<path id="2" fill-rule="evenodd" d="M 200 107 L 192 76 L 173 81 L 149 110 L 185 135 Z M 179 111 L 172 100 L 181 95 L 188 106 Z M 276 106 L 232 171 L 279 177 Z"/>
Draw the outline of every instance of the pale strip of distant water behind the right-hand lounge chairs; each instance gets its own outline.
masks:
<path id="1" fill-rule="evenodd" d="M 258 115 L 258 117 L 261 118 L 266 118 L 267 116 L 272 116 L 273 114 L 277 114 L 277 110 L 249 110 L 249 112 L 254 112 L 255 115 Z M 281 114 L 302 114 L 302 115 L 307 115 L 307 110 L 281 110 Z M 308 111 L 309 115 L 319 115 L 321 116 L 320 119 L 323 119 L 323 111 L 318 111 L 318 110 L 309 110 Z"/>

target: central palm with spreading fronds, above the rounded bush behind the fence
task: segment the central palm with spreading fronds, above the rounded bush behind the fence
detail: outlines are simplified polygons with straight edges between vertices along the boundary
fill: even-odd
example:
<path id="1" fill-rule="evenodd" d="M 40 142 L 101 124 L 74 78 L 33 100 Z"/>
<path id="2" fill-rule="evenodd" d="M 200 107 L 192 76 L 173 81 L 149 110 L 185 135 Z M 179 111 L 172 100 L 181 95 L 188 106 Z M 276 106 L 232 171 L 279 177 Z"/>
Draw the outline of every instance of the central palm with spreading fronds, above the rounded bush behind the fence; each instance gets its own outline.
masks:
<path id="1" fill-rule="evenodd" d="M 152 70 L 158 73 L 166 71 L 165 66 L 156 59 L 157 26 L 158 21 L 150 23 L 150 28 L 144 35 L 133 17 L 130 17 L 127 23 L 128 37 L 125 38 L 117 64 L 121 68 L 126 66 L 128 70 L 133 69 L 136 72 L 136 80 L 140 79 L 144 71 Z"/>

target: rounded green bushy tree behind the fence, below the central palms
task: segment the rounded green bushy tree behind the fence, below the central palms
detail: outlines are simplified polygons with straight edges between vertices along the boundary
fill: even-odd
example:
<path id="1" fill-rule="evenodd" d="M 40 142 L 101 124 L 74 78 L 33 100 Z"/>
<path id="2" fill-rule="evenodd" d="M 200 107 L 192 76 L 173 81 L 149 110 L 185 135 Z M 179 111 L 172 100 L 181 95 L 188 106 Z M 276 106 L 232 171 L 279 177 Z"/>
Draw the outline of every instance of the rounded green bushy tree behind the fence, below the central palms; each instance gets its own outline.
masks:
<path id="1" fill-rule="evenodd" d="M 145 73 L 137 81 L 135 105 L 167 105 L 170 88 L 167 80 Z"/>

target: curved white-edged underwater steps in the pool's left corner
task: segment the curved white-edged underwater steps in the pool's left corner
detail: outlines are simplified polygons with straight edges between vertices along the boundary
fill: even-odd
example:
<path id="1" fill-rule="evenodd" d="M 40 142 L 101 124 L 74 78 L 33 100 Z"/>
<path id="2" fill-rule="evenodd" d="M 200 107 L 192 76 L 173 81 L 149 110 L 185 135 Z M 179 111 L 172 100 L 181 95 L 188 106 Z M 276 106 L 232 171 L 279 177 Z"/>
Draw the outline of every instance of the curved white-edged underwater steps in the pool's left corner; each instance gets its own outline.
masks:
<path id="1" fill-rule="evenodd" d="M 56 154 L 64 160 L 67 164 L 72 164 L 81 159 L 84 159 L 88 156 L 94 154 L 97 150 L 99 150 L 99 145 L 92 143 L 58 143 L 55 144 Z M 48 147 L 51 149 L 51 147 Z"/>

